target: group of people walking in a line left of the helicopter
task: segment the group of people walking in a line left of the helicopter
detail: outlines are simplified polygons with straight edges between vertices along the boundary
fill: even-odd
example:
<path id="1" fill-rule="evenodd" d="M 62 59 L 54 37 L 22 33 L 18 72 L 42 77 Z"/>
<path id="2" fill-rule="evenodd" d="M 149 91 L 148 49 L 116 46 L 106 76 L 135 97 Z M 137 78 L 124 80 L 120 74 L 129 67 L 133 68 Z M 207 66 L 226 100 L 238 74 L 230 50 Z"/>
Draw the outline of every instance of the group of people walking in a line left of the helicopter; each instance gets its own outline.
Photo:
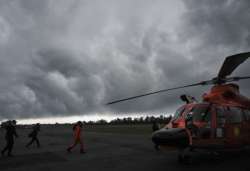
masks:
<path id="1" fill-rule="evenodd" d="M 73 125 L 73 133 L 74 133 L 74 141 L 73 144 L 70 145 L 67 148 L 67 152 L 71 152 L 71 150 L 77 145 L 80 144 L 80 153 L 85 153 L 85 148 L 83 144 L 82 139 L 82 127 L 83 123 L 78 121 L 76 124 Z M 3 128 L 5 129 L 5 140 L 6 140 L 6 146 L 2 149 L 1 155 L 4 156 L 7 152 L 7 155 L 9 157 L 12 155 L 12 149 L 14 146 L 14 139 L 18 138 L 18 134 L 16 132 L 16 121 L 7 121 Z M 40 124 L 37 123 L 32 127 L 32 131 L 28 134 L 28 137 L 31 138 L 31 140 L 26 144 L 26 147 L 28 148 L 30 145 L 32 145 L 34 142 L 36 142 L 37 147 L 40 147 L 40 141 L 38 139 L 38 133 L 40 131 Z"/>

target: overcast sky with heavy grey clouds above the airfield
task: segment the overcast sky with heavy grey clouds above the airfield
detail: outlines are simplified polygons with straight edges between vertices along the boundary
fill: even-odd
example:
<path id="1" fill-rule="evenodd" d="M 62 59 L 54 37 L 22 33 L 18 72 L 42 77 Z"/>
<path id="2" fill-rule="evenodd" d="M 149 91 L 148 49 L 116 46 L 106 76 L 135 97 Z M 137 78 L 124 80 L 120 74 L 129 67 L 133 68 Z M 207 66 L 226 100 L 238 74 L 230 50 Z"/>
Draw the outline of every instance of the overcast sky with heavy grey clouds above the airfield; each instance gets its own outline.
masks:
<path id="1" fill-rule="evenodd" d="M 171 113 L 183 93 L 104 104 L 207 80 L 250 51 L 248 0 L 2 0 L 0 120 Z M 233 75 L 250 75 L 250 59 Z M 239 82 L 250 96 L 250 81 Z"/>

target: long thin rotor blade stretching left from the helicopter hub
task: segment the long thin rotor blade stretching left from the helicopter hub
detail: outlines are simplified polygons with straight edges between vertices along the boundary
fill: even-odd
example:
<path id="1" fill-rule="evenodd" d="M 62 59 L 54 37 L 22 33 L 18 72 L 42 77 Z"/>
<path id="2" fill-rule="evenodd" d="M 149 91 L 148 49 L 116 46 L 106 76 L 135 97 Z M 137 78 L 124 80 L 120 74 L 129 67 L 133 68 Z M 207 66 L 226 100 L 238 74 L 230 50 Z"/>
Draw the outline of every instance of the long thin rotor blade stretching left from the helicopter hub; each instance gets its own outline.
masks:
<path id="1" fill-rule="evenodd" d="M 206 85 L 206 84 L 209 84 L 209 83 L 210 83 L 210 80 L 209 81 L 202 81 L 202 82 L 195 83 L 195 84 L 185 85 L 185 86 L 181 86 L 181 87 L 174 87 L 174 88 L 163 89 L 163 90 L 159 90 L 159 91 L 153 91 L 153 92 L 149 92 L 149 93 L 146 93 L 146 94 L 141 94 L 141 95 L 137 95 L 137 96 L 133 96 L 133 97 L 128 97 L 128 98 L 125 98 L 125 99 L 115 100 L 115 101 L 107 103 L 106 105 L 119 103 L 119 102 L 123 102 L 123 101 L 127 101 L 127 100 L 132 100 L 132 99 L 136 99 L 136 98 L 140 98 L 140 97 L 144 97 L 144 96 L 149 96 L 149 95 L 152 95 L 152 94 L 158 94 L 158 93 L 162 93 L 162 92 L 166 92 L 166 91 L 170 91 L 170 90 L 176 90 L 176 89 L 181 89 L 181 88 L 186 88 L 186 87 L 193 87 L 193 86 L 198 86 L 198 85 Z"/>

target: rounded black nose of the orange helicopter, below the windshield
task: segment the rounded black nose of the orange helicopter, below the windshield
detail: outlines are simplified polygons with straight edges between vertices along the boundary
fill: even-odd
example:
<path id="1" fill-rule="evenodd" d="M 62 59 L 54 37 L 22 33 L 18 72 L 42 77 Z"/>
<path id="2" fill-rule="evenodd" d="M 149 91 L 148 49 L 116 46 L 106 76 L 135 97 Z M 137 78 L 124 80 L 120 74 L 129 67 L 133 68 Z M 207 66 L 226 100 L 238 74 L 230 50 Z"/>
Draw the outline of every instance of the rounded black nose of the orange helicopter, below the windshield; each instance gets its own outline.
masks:
<path id="1" fill-rule="evenodd" d="M 152 134 L 152 141 L 160 146 L 185 148 L 189 145 L 189 136 L 184 128 L 163 128 Z"/>

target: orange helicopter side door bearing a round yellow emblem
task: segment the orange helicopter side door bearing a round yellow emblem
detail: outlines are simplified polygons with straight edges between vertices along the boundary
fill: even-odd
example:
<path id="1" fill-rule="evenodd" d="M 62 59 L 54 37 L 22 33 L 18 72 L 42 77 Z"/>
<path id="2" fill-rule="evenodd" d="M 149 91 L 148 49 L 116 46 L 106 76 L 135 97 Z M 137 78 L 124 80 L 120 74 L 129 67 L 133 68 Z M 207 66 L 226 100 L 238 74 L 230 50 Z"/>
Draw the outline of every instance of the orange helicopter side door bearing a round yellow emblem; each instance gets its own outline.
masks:
<path id="1" fill-rule="evenodd" d="M 243 138 L 243 113 L 240 108 L 227 107 L 226 109 L 226 143 L 229 146 L 242 144 Z"/>

